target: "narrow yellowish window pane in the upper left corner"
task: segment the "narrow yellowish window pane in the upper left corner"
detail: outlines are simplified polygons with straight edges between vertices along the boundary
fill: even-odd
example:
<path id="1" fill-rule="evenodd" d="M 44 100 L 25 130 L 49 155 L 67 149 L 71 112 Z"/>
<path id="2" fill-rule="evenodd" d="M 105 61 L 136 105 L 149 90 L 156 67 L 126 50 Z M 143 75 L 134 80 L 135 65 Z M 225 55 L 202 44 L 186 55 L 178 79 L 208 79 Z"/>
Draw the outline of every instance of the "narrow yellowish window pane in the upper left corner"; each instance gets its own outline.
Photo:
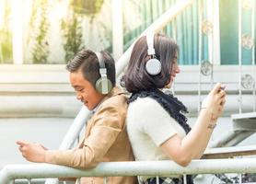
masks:
<path id="1" fill-rule="evenodd" d="M 11 1 L 0 0 L 0 63 L 13 63 Z"/>

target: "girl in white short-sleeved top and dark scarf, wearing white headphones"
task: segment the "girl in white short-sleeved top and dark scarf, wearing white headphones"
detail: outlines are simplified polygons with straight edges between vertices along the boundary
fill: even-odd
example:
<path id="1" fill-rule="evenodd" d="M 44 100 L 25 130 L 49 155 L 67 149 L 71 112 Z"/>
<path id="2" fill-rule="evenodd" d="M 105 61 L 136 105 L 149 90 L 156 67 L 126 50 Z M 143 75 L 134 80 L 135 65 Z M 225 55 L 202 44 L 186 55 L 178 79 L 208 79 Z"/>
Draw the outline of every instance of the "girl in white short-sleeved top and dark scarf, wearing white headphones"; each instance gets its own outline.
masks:
<path id="1" fill-rule="evenodd" d="M 128 68 L 122 77 L 123 85 L 132 93 L 129 98 L 126 123 L 136 160 L 171 159 L 186 167 L 199 159 L 209 142 L 220 116 L 226 92 L 219 83 L 204 99 L 193 128 L 183 113 L 187 108 L 179 99 L 166 95 L 162 88 L 171 86 L 180 68 L 177 62 L 179 47 L 166 36 L 147 34 L 134 44 Z M 180 184 L 180 176 L 139 177 L 143 184 Z M 192 178 L 187 177 L 187 183 Z"/>

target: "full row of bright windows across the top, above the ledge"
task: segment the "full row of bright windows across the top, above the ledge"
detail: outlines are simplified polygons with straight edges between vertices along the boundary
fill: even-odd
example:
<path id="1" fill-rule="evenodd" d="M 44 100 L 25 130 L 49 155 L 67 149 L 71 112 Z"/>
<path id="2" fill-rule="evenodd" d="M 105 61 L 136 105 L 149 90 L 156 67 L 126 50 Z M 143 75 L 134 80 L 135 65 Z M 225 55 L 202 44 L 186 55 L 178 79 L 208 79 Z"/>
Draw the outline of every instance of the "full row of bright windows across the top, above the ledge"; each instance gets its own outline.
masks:
<path id="1" fill-rule="evenodd" d="M 82 48 L 104 49 L 113 52 L 118 59 L 176 2 L 179 0 L 1 0 L 0 63 L 66 63 Z M 251 14 L 255 5 L 253 0 L 243 2 L 242 36 L 250 41 Z M 215 63 L 239 64 L 238 10 L 239 0 L 219 0 L 217 3 L 198 0 L 181 12 L 175 22 L 169 23 L 162 32 L 172 37 L 173 27 L 177 27 L 180 64 L 199 63 L 200 18 L 204 21 L 202 59 L 208 59 L 207 38 L 215 29 L 215 38 L 219 37 L 214 40 L 218 41 Z M 113 29 L 118 29 L 118 35 Z M 122 44 L 113 45 L 116 40 Z M 117 47 L 120 48 L 118 52 Z M 251 63 L 249 48 L 250 45 L 243 48 L 243 64 Z"/>

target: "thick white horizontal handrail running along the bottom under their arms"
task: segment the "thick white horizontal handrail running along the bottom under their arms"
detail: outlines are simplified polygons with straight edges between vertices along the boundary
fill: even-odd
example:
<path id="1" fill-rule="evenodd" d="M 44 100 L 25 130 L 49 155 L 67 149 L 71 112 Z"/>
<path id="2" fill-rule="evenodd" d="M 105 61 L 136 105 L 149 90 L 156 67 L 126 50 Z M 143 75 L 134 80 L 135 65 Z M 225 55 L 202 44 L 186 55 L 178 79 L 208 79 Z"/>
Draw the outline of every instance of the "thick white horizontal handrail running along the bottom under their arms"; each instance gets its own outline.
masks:
<path id="1" fill-rule="evenodd" d="M 16 178 L 81 178 L 109 176 L 169 176 L 210 173 L 256 173 L 255 158 L 192 160 L 188 167 L 173 161 L 106 162 L 87 170 L 50 164 L 8 165 L 0 183 Z"/>

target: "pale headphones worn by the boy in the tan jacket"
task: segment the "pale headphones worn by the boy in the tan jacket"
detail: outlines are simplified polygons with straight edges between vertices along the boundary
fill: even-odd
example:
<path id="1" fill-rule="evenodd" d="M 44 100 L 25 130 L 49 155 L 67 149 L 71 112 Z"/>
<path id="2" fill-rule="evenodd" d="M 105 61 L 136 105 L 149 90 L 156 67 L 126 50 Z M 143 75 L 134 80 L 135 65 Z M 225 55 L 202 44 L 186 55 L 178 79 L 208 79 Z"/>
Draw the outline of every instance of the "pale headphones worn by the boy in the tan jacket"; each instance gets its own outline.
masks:
<path id="1" fill-rule="evenodd" d="M 110 93 L 112 88 L 111 80 L 107 77 L 107 68 L 105 66 L 105 62 L 102 59 L 102 54 L 100 52 L 95 52 L 98 60 L 99 60 L 99 75 L 100 78 L 96 81 L 95 88 L 99 91 L 99 93 L 106 95 Z"/>

